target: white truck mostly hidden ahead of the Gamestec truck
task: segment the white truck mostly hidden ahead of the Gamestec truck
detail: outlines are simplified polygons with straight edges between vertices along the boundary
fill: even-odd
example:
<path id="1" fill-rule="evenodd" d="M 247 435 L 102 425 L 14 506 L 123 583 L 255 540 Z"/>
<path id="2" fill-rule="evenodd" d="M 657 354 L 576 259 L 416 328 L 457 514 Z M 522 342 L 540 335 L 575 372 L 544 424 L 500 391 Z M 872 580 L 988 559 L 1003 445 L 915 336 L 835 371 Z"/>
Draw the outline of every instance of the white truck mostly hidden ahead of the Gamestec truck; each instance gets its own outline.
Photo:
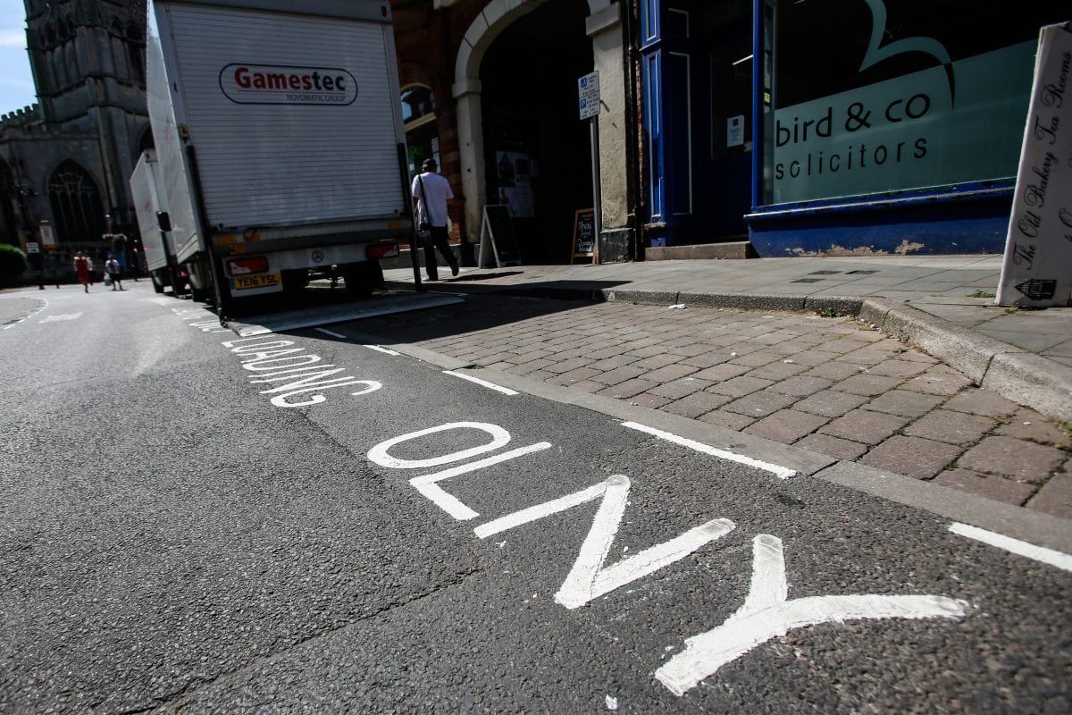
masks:
<path id="1" fill-rule="evenodd" d="M 164 183 L 157 152 L 146 149 L 138 158 L 131 174 L 131 195 L 137 211 L 137 227 L 142 234 L 142 248 L 149 279 L 157 293 L 170 287 L 175 295 L 182 293 L 183 281 L 175 264 L 175 242 L 172 232 L 161 226 L 161 215 L 167 213 L 164 203 Z"/>

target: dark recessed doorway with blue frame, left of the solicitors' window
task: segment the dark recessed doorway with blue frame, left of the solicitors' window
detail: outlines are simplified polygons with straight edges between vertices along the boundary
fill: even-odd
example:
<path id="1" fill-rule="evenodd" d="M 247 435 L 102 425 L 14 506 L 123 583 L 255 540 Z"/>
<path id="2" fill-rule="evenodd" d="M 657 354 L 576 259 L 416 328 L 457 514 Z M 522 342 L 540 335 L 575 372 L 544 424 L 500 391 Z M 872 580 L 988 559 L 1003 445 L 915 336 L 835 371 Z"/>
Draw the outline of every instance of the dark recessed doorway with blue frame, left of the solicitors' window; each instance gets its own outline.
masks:
<path id="1" fill-rule="evenodd" d="M 669 244 L 738 240 L 751 209 L 751 3 L 669 0 L 647 49 L 652 228 Z M 658 244 L 666 244 L 658 243 Z M 653 243 L 656 244 L 656 243 Z"/>

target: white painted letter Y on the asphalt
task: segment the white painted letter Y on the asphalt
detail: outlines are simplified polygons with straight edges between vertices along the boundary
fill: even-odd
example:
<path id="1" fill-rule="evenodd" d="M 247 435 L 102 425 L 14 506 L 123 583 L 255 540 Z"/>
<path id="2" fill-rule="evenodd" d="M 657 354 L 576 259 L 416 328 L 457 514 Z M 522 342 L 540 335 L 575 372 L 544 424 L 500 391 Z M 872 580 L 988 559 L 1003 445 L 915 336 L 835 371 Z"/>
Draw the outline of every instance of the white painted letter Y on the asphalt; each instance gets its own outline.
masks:
<path id="1" fill-rule="evenodd" d="M 809 596 L 788 598 L 781 539 L 753 539 L 751 586 L 744 606 L 723 625 L 685 640 L 685 651 L 655 671 L 655 679 L 682 696 L 757 645 L 790 630 L 864 619 L 959 619 L 969 604 L 944 596 Z"/>

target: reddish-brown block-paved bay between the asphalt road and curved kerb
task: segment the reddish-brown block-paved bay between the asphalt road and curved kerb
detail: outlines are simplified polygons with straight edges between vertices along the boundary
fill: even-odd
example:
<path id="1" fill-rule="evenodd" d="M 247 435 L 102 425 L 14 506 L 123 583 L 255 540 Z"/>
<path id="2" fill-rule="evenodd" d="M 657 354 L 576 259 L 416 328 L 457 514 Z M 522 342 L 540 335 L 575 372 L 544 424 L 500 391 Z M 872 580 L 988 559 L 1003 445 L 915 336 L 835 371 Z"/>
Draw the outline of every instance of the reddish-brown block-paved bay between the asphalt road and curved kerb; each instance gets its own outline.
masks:
<path id="1" fill-rule="evenodd" d="M 1064 426 L 854 318 L 471 296 L 362 329 L 1072 518 Z"/>

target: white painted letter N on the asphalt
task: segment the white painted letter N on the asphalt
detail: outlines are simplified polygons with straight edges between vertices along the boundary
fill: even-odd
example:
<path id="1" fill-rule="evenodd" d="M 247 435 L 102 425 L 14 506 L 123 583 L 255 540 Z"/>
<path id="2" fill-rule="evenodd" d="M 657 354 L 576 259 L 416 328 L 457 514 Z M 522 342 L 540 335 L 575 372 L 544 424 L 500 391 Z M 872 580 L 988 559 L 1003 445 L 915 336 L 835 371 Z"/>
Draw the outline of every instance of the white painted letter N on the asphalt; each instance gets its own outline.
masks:
<path id="1" fill-rule="evenodd" d="M 592 520 L 592 528 L 589 530 L 574 567 L 554 595 L 554 600 L 568 609 L 580 608 L 599 596 L 654 574 L 735 528 L 734 523 L 728 519 L 714 519 L 676 538 L 605 566 L 629 498 L 629 478 L 616 474 L 594 487 L 481 524 L 474 533 L 480 538 L 487 538 L 599 496 L 602 496 L 602 504 Z"/>

